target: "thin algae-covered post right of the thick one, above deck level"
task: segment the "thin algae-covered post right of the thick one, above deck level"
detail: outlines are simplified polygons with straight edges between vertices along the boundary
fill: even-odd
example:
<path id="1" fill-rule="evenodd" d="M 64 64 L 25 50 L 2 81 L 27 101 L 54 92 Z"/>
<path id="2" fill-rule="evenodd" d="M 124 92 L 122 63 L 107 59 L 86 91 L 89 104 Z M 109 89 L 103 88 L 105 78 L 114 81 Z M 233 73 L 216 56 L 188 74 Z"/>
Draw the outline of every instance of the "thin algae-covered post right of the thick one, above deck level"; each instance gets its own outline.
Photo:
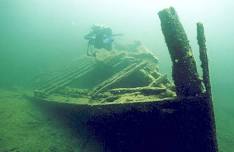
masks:
<path id="1" fill-rule="evenodd" d="M 207 51 L 206 51 L 206 38 L 205 38 L 204 27 L 202 23 L 197 23 L 197 42 L 199 45 L 200 60 L 201 60 L 201 67 L 202 67 L 202 73 L 203 73 L 203 82 L 206 88 L 206 94 L 209 97 L 212 97 L 208 57 L 207 57 Z"/>

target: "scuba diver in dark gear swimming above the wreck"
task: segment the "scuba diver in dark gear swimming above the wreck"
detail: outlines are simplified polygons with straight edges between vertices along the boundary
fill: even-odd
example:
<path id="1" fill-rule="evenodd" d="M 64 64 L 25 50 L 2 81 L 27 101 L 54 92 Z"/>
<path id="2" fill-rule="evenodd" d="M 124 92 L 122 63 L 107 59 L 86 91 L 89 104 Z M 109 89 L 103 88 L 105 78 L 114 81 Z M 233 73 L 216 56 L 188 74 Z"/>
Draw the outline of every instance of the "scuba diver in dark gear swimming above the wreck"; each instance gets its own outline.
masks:
<path id="1" fill-rule="evenodd" d="M 91 31 L 84 36 L 84 38 L 88 40 L 87 55 L 95 57 L 96 52 L 94 52 L 94 48 L 111 51 L 112 43 L 114 41 L 113 36 L 119 35 L 121 34 L 113 35 L 110 27 L 93 25 Z"/>

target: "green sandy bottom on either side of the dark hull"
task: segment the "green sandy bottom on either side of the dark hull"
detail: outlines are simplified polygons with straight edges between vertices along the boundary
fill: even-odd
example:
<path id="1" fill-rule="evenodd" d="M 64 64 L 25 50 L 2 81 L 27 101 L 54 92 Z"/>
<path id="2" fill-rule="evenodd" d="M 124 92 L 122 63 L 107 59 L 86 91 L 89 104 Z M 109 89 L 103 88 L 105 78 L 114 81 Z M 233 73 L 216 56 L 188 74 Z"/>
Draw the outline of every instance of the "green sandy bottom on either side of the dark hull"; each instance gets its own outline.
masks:
<path id="1" fill-rule="evenodd" d="M 0 90 L 0 152 L 80 152 L 83 141 L 25 98 L 22 89 Z M 234 110 L 216 109 L 221 152 L 234 149 Z M 85 150 L 86 151 L 86 150 Z"/>

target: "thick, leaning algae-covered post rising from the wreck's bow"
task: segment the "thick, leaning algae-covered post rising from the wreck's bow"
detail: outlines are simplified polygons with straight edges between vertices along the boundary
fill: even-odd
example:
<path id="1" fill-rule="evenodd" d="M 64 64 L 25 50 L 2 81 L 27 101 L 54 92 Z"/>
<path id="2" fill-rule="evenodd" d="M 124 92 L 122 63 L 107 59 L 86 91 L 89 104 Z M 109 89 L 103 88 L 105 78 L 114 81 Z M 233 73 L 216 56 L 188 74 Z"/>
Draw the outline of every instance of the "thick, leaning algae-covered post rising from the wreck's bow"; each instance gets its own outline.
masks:
<path id="1" fill-rule="evenodd" d="M 161 28 L 173 63 L 172 77 L 179 97 L 197 96 L 202 84 L 197 72 L 191 46 L 173 7 L 158 13 Z"/>

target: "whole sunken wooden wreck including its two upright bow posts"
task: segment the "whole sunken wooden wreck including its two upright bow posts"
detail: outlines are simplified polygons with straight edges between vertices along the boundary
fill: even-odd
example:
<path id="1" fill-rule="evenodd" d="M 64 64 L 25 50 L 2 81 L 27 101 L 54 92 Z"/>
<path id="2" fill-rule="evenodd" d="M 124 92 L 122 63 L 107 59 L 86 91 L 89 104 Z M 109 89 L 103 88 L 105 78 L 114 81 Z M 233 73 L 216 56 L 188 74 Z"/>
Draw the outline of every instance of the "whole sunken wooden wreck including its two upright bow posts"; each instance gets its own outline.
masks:
<path id="1" fill-rule="evenodd" d="M 37 103 L 85 130 L 77 135 L 80 150 L 218 151 L 204 28 L 197 25 L 201 80 L 174 8 L 158 15 L 175 85 L 151 54 L 123 52 L 98 61 L 80 59 L 35 90 Z"/>

